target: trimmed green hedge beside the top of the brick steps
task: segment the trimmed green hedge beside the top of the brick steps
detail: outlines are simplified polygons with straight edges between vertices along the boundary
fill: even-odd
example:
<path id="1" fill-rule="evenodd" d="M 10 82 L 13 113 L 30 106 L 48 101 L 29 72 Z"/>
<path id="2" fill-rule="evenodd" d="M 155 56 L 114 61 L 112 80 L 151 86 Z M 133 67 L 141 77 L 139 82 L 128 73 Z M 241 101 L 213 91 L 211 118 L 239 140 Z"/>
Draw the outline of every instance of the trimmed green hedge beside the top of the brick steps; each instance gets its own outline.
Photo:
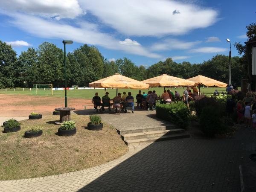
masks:
<path id="1" fill-rule="evenodd" d="M 156 106 L 157 117 L 170 121 L 180 128 L 186 128 L 190 122 L 191 112 L 182 102 Z"/>

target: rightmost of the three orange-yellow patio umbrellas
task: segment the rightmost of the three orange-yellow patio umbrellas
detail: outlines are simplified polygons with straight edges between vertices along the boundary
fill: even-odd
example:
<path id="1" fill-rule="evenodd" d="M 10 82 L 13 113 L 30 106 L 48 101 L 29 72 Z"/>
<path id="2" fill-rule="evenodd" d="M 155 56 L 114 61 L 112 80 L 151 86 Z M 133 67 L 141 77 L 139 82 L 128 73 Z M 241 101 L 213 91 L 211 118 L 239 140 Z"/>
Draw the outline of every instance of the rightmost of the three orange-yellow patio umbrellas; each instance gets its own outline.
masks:
<path id="1" fill-rule="evenodd" d="M 214 80 L 214 79 L 211 79 L 211 78 L 208 78 L 205 76 L 201 76 L 201 75 L 189 78 L 187 80 L 195 82 L 195 85 L 199 87 L 199 93 L 200 93 L 200 85 L 201 84 L 204 84 L 207 87 L 212 87 L 212 86 L 227 87 L 227 83 L 222 83 L 221 81 L 217 81 L 217 80 Z"/>

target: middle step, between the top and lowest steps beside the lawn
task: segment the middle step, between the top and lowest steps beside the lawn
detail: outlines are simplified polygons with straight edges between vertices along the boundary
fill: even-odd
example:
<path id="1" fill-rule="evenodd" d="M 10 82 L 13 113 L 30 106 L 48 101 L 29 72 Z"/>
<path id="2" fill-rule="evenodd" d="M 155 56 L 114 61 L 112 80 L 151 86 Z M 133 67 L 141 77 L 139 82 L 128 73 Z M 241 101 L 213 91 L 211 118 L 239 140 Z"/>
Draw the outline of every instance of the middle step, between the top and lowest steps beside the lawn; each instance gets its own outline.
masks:
<path id="1" fill-rule="evenodd" d="M 136 139 L 143 139 L 148 137 L 157 137 L 163 136 L 167 134 L 177 134 L 177 133 L 184 133 L 184 129 L 170 129 L 170 130 L 159 130 L 159 131 L 147 131 L 142 133 L 132 133 L 132 134 L 124 134 L 121 135 L 122 140 L 136 140 Z"/>

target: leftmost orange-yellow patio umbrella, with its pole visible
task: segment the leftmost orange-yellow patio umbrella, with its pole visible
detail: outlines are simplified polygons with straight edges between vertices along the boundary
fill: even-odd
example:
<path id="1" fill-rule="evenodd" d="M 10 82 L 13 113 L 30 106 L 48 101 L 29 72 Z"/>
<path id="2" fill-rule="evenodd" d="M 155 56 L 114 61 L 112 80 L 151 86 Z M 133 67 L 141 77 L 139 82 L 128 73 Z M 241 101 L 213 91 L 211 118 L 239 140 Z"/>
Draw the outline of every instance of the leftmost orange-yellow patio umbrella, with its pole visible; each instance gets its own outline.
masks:
<path id="1" fill-rule="evenodd" d="M 137 81 L 135 79 L 131 79 L 125 76 L 116 73 L 113 76 L 106 77 L 104 79 L 100 79 L 98 81 L 94 81 L 89 83 L 89 87 L 97 87 L 97 88 L 116 88 L 116 95 L 118 88 L 131 88 L 131 89 L 148 89 L 148 84 Z"/>

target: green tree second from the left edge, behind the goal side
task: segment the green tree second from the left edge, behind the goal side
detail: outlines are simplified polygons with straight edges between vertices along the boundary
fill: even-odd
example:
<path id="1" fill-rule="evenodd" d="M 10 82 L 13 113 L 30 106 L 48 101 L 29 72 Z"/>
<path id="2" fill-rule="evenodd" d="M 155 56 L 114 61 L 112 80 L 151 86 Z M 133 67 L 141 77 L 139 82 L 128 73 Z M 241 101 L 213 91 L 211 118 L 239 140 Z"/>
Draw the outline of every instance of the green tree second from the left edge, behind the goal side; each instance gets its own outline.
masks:
<path id="1" fill-rule="evenodd" d="M 38 55 L 34 48 L 21 52 L 18 58 L 20 87 L 32 87 L 39 80 Z"/>

